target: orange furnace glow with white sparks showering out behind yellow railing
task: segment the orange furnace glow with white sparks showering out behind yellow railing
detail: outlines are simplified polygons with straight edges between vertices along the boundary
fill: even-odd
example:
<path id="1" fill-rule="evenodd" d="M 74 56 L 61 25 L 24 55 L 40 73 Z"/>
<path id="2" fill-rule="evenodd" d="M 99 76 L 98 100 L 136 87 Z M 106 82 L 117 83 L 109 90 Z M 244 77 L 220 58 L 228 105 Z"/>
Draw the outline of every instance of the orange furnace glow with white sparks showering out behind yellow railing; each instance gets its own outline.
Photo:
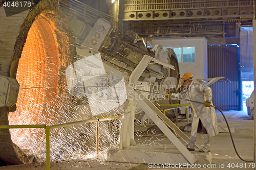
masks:
<path id="1" fill-rule="evenodd" d="M 19 91 L 17 110 L 9 113 L 10 125 L 56 125 L 93 118 L 87 99 L 69 94 L 64 72 L 71 61 L 59 58 L 61 45 L 54 31 L 48 21 L 38 18 L 28 33 L 16 76 L 23 90 Z M 104 102 L 112 103 L 108 100 Z M 101 116 L 122 113 L 120 106 Z M 100 157 L 106 157 L 108 149 L 118 144 L 121 123 L 121 119 L 99 123 Z M 10 129 L 10 133 L 20 149 L 45 161 L 44 129 Z M 96 158 L 96 123 L 51 129 L 50 143 L 51 161 Z"/>

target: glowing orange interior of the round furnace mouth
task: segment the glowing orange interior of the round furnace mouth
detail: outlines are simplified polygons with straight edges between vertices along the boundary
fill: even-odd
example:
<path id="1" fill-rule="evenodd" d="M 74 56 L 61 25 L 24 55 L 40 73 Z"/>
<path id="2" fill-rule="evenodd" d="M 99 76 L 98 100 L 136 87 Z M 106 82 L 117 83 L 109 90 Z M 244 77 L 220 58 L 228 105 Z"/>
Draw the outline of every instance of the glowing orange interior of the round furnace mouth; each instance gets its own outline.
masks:
<path id="1" fill-rule="evenodd" d="M 59 53 L 54 29 L 45 18 L 34 21 L 18 64 L 16 79 L 20 88 L 58 86 Z M 9 124 L 49 125 L 57 94 L 57 88 L 20 90 L 17 110 L 9 113 Z M 10 129 L 10 132 L 13 142 L 22 149 L 39 142 L 44 135 L 44 129 Z"/>

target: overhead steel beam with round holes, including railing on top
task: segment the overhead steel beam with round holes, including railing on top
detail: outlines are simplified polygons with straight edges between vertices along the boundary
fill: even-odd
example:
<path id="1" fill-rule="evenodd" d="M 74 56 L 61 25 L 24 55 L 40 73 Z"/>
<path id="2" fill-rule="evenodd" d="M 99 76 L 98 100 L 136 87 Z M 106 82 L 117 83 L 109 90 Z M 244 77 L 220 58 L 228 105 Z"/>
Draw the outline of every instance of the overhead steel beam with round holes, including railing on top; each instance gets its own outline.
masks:
<path id="1" fill-rule="evenodd" d="M 253 1 L 125 0 L 123 20 L 253 17 Z"/>

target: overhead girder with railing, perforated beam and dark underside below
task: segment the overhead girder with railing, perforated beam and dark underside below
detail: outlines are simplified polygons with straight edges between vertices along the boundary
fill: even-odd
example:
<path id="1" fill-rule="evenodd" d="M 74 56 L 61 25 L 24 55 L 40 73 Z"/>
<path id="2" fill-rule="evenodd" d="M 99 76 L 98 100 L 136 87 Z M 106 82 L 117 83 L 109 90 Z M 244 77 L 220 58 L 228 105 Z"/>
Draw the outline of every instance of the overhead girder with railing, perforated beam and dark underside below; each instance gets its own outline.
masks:
<path id="1" fill-rule="evenodd" d="M 211 44 L 233 44 L 239 28 L 252 24 L 253 1 L 125 0 L 122 14 L 127 30 L 148 39 L 203 36 Z"/>

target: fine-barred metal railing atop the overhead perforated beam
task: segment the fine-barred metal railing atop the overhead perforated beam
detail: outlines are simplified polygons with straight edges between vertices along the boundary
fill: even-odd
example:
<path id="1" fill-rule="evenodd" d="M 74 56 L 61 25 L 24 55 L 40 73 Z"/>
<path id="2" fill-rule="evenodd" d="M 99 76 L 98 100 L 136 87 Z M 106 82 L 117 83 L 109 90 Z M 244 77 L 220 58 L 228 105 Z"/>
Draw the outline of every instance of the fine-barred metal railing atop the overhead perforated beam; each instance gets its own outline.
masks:
<path id="1" fill-rule="evenodd" d="M 124 12 L 147 11 L 147 10 L 170 10 L 170 9 L 205 9 L 223 7 L 247 7 L 253 6 L 252 0 L 125 0 Z"/>

